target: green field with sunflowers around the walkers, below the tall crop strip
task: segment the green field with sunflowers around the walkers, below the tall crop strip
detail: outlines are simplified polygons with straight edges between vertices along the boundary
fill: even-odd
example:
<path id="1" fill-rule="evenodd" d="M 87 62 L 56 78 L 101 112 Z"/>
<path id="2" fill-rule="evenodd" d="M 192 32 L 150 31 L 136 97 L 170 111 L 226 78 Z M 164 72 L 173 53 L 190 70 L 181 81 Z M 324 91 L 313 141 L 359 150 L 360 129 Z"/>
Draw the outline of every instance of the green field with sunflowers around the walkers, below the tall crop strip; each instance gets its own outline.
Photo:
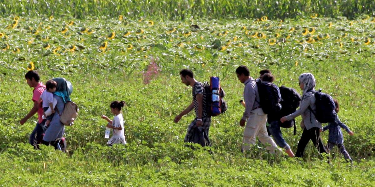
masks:
<path id="1" fill-rule="evenodd" d="M 348 20 L 314 12 L 300 19 L 263 14 L 171 21 L 123 13 L 51 15 L 0 17 L 1 185 L 374 186 L 374 16 Z M 269 154 L 263 145 L 241 153 L 243 85 L 235 70 L 242 64 L 252 77 L 268 68 L 276 85 L 298 91 L 298 76 L 314 74 L 317 88 L 338 99 L 339 117 L 355 133 L 344 134 L 353 165 L 337 148 L 328 164 L 311 143 L 303 159 Z M 201 82 L 219 76 L 226 91 L 229 109 L 213 118 L 211 151 L 184 146 L 193 112 L 173 122 L 191 102 L 191 87 L 178 74 L 183 68 Z M 75 125 L 66 127 L 67 153 L 46 146 L 33 150 L 27 143 L 37 120 L 19 124 L 33 104 L 24 79 L 30 69 L 42 82 L 65 77 L 74 86 L 71 98 L 80 112 Z M 107 122 L 100 116 L 112 116 L 113 100 L 127 104 L 128 144 L 107 147 Z M 296 136 L 293 128 L 282 132 L 296 151 L 302 130 L 297 127 Z M 326 143 L 328 132 L 322 136 Z"/>

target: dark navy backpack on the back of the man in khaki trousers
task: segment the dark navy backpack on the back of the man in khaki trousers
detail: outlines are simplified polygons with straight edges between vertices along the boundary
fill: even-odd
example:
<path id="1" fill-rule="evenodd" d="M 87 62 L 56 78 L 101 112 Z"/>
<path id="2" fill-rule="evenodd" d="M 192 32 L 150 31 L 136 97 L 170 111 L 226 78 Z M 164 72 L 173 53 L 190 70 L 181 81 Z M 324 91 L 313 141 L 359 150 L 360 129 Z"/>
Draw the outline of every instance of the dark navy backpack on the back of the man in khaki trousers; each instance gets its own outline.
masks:
<path id="1" fill-rule="evenodd" d="M 260 99 L 260 107 L 265 114 L 276 114 L 281 110 L 281 95 L 279 87 L 270 82 L 258 80 L 257 87 Z"/>

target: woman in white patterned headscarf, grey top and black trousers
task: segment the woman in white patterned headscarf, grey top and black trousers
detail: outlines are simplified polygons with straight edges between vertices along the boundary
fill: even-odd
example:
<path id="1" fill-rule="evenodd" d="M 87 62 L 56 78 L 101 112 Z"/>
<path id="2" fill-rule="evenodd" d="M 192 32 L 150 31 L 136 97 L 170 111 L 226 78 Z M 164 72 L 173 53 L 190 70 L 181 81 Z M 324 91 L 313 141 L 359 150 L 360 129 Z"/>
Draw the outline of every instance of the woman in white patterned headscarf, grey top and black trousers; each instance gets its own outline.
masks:
<path id="1" fill-rule="evenodd" d="M 303 95 L 301 99 L 300 108 L 295 111 L 293 114 L 282 117 L 280 121 L 284 123 L 285 121 L 292 120 L 297 116 L 301 115 L 302 117 L 302 127 L 303 132 L 300 141 L 298 142 L 298 148 L 296 152 L 296 157 L 302 157 L 305 147 L 311 140 L 315 147 L 317 147 L 320 153 L 327 153 L 326 148 L 320 138 L 320 129 L 322 124 L 318 122 L 315 118 L 315 78 L 311 73 L 303 73 L 299 76 L 299 85 L 301 90 L 303 90 Z"/>

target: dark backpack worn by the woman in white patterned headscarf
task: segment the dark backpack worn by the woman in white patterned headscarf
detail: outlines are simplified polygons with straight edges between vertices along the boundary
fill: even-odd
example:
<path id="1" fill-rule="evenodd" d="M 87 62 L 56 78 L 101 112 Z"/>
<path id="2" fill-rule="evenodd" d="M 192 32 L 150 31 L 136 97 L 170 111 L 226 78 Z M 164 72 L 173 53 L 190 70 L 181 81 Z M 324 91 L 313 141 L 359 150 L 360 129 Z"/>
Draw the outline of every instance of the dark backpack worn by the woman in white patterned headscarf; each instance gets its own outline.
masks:
<path id="1" fill-rule="evenodd" d="M 336 105 L 333 99 L 327 93 L 319 91 L 314 93 L 315 96 L 315 112 L 309 106 L 310 111 L 315 115 L 318 122 L 320 123 L 330 123 L 334 122 L 336 119 Z"/>

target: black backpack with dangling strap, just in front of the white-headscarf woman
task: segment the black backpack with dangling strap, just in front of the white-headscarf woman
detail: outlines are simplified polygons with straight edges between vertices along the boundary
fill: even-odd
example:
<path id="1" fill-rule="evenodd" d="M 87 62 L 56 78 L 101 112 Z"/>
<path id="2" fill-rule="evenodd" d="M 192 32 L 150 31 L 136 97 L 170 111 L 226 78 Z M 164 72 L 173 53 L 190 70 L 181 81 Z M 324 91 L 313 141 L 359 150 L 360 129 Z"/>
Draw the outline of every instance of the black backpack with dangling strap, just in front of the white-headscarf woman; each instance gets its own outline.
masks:
<path id="1" fill-rule="evenodd" d="M 282 107 L 278 113 L 278 120 L 280 120 L 281 117 L 294 113 L 301 102 L 301 97 L 295 89 L 285 86 L 281 86 L 279 89 L 281 95 L 280 104 Z M 296 121 L 294 119 L 284 123 L 280 122 L 279 125 L 282 128 L 291 128 L 294 126 L 293 134 L 296 135 Z"/>

